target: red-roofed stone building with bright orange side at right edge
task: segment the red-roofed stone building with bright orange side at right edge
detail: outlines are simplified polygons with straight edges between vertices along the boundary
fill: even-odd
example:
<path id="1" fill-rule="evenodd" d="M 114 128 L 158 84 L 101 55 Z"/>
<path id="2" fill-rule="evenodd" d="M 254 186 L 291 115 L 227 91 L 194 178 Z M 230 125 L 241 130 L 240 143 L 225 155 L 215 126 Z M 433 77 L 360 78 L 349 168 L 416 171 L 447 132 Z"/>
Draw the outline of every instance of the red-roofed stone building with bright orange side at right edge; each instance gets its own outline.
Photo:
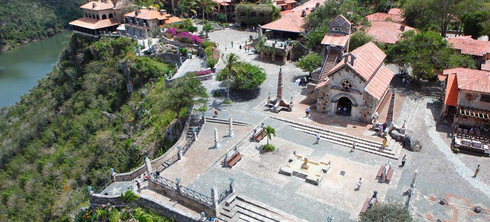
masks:
<path id="1" fill-rule="evenodd" d="M 463 128 L 490 124 L 490 72 L 454 68 L 445 70 L 444 75 L 443 118 Z"/>

